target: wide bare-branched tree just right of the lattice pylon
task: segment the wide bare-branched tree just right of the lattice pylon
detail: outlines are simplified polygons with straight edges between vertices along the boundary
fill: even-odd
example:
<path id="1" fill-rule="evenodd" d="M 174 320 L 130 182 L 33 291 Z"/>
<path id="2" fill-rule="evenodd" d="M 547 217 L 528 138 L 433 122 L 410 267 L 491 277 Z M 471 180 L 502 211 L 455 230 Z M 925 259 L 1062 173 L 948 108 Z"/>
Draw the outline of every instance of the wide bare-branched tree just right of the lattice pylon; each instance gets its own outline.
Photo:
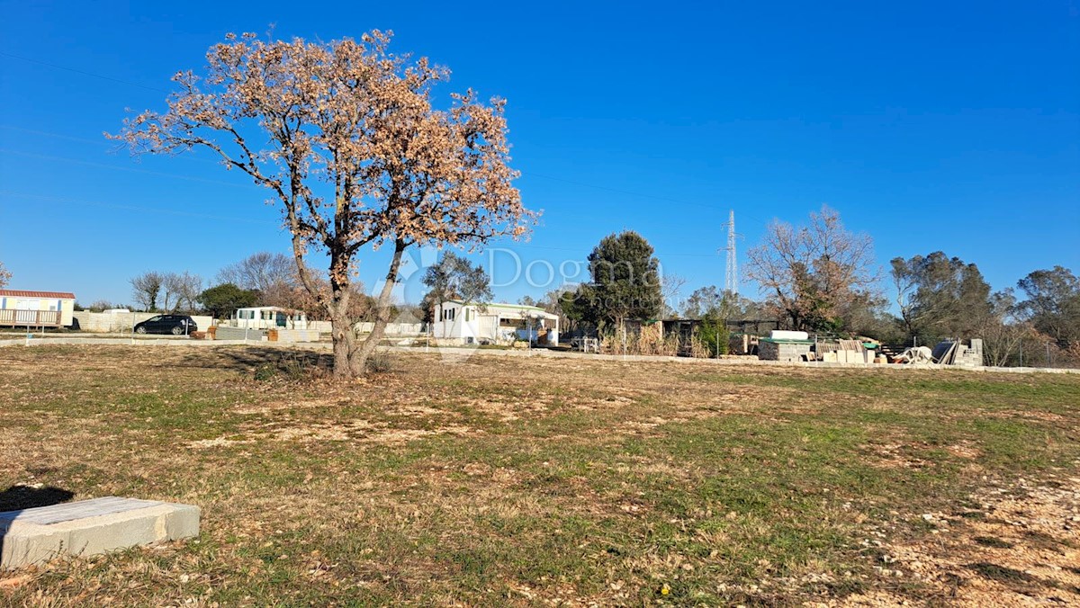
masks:
<path id="1" fill-rule="evenodd" d="M 846 307 L 877 280 L 870 238 L 846 230 L 825 205 L 806 226 L 773 221 L 746 256 L 747 276 L 796 329 L 838 328 Z"/>

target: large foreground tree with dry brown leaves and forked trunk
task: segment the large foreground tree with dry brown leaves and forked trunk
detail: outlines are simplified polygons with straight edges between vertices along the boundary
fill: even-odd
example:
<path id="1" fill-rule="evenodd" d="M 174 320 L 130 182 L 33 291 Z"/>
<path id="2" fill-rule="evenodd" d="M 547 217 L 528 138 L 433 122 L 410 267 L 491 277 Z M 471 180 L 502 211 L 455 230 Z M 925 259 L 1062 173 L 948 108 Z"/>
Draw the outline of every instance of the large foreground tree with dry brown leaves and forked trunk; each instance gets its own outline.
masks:
<path id="1" fill-rule="evenodd" d="M 535 218 L 512 185 L 504 102 L 486 105 L 469 91 L 434 109 L 431 87 L 448 70 L 389 53 L 391 36 L 315 43 L 229 35 L 207 53 L 203 77 L 173 77 L 179 91 L 166 111 L 143 112 L 110 136 L 136 154 L 212 150 L 270 190 L 300 282 L 332 321 L 338 378 L 364 373 L 408 247 L 518 238 Z M 375 329 L 361 343 L 349 286 L 367 245 L 392 256 Z M 328 294 L 307 269 L 311 249 L 329 258 Z"/>

